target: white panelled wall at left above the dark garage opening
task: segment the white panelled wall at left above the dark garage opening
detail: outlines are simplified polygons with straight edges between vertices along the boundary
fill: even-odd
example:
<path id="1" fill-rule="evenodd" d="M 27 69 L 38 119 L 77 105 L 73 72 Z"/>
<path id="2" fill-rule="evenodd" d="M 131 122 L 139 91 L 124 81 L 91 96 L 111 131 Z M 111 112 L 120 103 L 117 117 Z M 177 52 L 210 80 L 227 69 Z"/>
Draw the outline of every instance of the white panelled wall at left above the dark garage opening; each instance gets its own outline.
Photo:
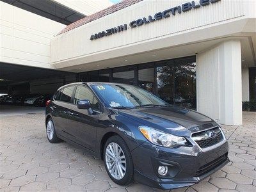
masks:
<path id="1" fill-rule="evenodd" d="M 65 25 L 0 1 L 0 61 L 52 68 L 50 41 Z"/>

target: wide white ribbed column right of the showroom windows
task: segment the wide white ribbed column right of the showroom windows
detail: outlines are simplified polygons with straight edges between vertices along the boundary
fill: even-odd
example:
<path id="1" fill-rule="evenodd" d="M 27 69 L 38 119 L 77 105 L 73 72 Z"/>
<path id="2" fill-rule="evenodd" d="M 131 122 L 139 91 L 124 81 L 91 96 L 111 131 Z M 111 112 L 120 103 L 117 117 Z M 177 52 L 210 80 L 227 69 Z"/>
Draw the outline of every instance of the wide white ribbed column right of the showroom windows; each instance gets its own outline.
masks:
<path id="1" fill-rule="evenodd" d="M 242 124 L 241 44 L 228 40 L 196 55 L 197 110 L 221 124 Z"/>

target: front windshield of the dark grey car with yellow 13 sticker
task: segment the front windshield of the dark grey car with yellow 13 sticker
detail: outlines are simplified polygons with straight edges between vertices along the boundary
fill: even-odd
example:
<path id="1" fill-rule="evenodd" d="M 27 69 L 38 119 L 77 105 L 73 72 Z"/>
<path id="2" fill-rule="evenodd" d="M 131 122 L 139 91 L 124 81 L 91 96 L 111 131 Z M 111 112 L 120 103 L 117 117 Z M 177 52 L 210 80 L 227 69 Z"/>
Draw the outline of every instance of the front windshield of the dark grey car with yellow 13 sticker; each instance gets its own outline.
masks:
<path id="1" fill-rule="evenodd" d="M 93 90 L 111 108 L 168 106 L 152 93 L 129 84 L 92 84 Z"/>

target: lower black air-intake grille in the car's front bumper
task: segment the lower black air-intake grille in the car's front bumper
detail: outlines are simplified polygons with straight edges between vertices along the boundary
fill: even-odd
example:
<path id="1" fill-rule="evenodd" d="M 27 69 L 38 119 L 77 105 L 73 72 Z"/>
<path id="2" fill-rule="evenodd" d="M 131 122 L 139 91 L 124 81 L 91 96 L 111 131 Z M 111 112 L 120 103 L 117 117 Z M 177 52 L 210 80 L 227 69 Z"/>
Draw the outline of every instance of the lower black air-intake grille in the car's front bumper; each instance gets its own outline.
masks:
<path id="1" fill-rule="evenodd" d="M 218 157 L 217 159 L 214 159 L 210 163 L 200 166 L 198 171 L 195 173 L 194 177 L 200 177 L 208 172 L 211 172 L 211 170 L 214 170 L 214 168 L 220 166 L 220 164 L 227 161 L 227 159 L 228 159 L 228 153 L 224 154 L 223 156 Z"/>

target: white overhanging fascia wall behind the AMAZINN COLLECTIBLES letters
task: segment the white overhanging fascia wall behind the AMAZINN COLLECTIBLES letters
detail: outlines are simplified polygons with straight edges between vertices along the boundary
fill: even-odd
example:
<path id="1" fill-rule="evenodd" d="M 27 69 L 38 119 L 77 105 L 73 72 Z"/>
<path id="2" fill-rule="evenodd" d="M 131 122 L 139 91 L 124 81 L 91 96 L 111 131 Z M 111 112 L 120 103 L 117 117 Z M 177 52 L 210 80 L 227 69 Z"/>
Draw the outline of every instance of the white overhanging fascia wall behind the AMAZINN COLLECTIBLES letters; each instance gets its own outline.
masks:
<path id="1" fill-rule="evenodd" d="M 245 10 L 244 4 L 255 6 L 255 1 L 221 0 L 137 28 L 129 28 L 115 35 L 90 40 L 92 34 L 120 24 L 129 25 L 132 20 L 148 15 L 154 16 L 154 13 L 187 2 L 186 0 L 141 1 L 58 35 L 51 42 L 51 63 L 56 68 L 86 65 L 86 63 L 229 36 L 243 31 L 243 26 L 247 22 L 243 19 L 247 18 L 248 12 L 253 11 L 252 8 L 247 9 L 247 6 Z"/>

